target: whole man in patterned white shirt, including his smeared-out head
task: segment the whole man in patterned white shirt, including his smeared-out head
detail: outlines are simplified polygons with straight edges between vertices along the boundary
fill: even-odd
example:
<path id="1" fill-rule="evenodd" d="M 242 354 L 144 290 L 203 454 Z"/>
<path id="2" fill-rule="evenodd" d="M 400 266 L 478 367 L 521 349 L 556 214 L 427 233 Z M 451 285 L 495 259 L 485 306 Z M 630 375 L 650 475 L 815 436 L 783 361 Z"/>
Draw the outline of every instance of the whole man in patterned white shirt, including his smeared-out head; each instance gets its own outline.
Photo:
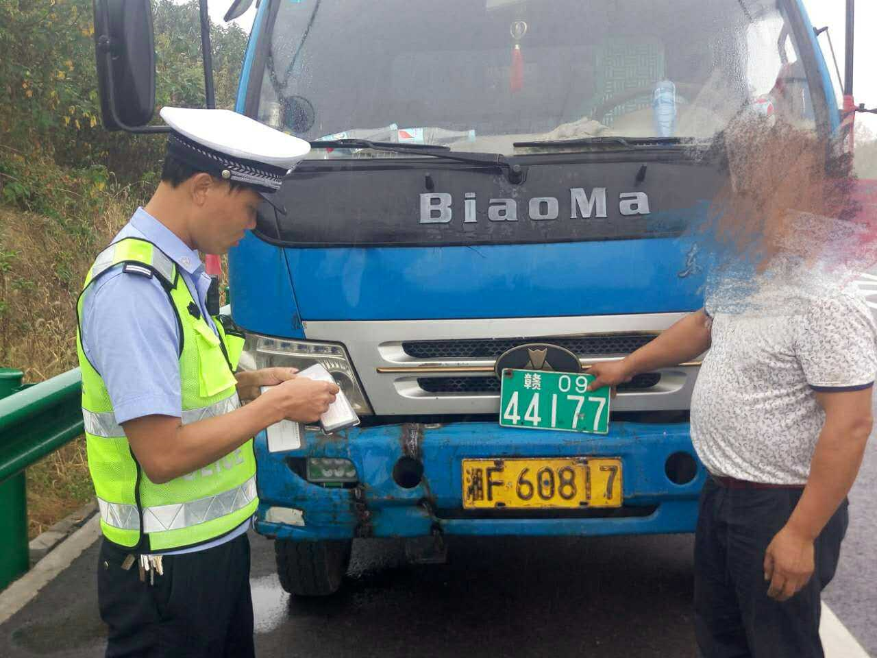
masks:
<path id="1" fill-rule="evenodd" d="M 749 193 L 733 190 L 717 213 L 737 230 L 726 235 L 757 238 L 743 246 L 758 253 L 748 260 L 758 267 L 745 270 L 741 249 L 724 275 L 714 272 L 703 309 L 590 370 L 594 390 L 706 353 L 691 399 L 691 438 L 709 471 L 695 533 L 695 635 L 706 658 L 822 658 L 820 594 L 838 564 L 846 495 L 872 429 L 877 328 L 831 265 L 838 254 L 849 260 L 854 230 L 809 214 L 824 199 L 802 204 L 798 191 L 825 189 L 813 166 L 824 145 L 778 139 L 771 158 L 764 135 L 755 165 L 742 157 L 736 168 L 735 185 L 746 176 Z M 795 153 L 790 144 L 805 146 Z"/>

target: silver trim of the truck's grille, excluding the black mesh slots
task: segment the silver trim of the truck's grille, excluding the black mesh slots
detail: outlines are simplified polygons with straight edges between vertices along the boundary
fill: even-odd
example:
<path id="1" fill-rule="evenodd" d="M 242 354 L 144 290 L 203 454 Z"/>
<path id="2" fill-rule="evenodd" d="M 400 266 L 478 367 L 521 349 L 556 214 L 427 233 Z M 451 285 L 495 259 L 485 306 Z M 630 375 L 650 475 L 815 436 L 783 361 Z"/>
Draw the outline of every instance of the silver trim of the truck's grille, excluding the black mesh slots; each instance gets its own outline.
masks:
<path id="1" fill-rule="evenodd" d="M 453 340 L 522 340 L 552 342 L 608 334 L 651 334 L 664 331 L 687 313 L 644 313 L 558 318 L 473 318 L 453 320 L 307 320 L 307 340 L 343 343 L 353 367 L 381 416 L 496 413 L 499 396 L 489 392 L 434 393 L 418 379 L 430 376 L 485 377 L 496 357 L 418 359 L 406 354 L 403 343 Z M 594 354 L 582 365 L 617 360 L 619 355 Z M 440 369 L 437 369 L 440 368 Z M 688 409 L 698 367 L 686 364 L 661 371 L 660 382 L 645 390 L 619 392 L 615 411 Z"/>

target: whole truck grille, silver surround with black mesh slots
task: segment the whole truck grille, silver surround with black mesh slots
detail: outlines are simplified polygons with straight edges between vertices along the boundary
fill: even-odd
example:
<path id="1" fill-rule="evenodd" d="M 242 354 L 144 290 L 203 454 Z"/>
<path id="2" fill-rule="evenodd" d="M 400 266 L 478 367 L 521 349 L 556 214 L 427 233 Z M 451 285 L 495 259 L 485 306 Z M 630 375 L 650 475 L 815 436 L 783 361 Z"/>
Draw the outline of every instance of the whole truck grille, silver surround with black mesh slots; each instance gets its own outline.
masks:
<path id="1" fill-rule="evenodd" d="M 306 340 L 344 344 L 376 416 L 438 418 L 496 414 L 500 383 L 493 367 L 514 347 L 551 343 L 587 365 L 623 358 L 684 317 L 310 320 L 303 326 Z M 639 375 L 621 387 L 612 410 L 687 410 L 696 375 L 696 363 Z"/>

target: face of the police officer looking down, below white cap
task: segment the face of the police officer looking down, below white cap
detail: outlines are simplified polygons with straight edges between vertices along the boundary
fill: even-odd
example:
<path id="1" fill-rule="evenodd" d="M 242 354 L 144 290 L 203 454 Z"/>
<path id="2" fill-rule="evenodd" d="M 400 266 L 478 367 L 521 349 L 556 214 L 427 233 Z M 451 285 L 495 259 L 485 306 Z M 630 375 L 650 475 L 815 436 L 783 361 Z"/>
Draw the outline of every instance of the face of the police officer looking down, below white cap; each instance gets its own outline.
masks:
<path id="1" fill-rule="evenodd" d="M 225 254 L 256 227 L 262 197 L 250 188 L 232 190 L 228 182 L 212 179 L 203 190 L 203 203 L 191 224 L 192 239 L 204 254 Z"/>

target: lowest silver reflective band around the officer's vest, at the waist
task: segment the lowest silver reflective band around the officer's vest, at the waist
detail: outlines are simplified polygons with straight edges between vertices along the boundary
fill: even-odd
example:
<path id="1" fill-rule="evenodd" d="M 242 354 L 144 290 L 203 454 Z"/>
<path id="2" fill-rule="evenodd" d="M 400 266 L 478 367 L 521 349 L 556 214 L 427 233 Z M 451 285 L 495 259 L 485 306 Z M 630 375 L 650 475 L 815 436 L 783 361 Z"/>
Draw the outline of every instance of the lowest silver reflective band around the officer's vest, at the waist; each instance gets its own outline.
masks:
<path id="1" fill-rule="evenodd" d="M 229 491 L 207 496 L 188 503 L 156 505 L 143 508 L 143 532 L 160 533 L 179 530 L 199 523 L 219 519 L 232 511 L 238 511 L 253 502 L 256 497 L 256 478 Z M 139 530 L 140 519 L 136 505 L 108 503 L 97 499 L 101 520 L 108 526 L 121 530 Z"/>

